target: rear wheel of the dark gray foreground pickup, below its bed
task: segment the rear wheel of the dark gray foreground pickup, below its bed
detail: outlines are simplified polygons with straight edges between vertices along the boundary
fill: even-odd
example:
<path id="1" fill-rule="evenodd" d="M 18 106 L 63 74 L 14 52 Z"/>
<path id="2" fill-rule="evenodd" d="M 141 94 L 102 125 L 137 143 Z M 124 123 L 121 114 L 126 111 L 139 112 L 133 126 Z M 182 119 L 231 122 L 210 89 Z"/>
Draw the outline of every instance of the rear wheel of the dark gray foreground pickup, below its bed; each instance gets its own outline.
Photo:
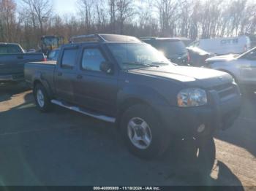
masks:
<path id="1" fill-rule="evenodd" d="M 34 87 L 34 99 L 36 101 L 37 108 L 41 112 L 50 112 L 52 104 L 50 103 L 50 98 L 45 87 L 41 84 L 37 84 L 36 87 Z"/>

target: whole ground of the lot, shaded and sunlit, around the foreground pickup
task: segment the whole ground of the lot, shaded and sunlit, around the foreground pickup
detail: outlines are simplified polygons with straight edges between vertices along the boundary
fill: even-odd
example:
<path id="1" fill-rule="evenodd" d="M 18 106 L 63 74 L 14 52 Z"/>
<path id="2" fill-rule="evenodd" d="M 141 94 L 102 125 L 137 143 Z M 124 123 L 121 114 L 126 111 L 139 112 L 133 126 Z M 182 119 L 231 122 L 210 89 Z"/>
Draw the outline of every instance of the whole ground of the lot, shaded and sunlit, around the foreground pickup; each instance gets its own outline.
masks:
<path id="1" fill-rule="evenodd" d="M 42 114 L 30 90 L 0 86 L 1 185 L 256 186 L 256 96 L 244 98 L 233 128 L 216 135 L 211 176 L 176 153 L 153 161 L 127 152 L 113 125 L 56 107 Z"/>

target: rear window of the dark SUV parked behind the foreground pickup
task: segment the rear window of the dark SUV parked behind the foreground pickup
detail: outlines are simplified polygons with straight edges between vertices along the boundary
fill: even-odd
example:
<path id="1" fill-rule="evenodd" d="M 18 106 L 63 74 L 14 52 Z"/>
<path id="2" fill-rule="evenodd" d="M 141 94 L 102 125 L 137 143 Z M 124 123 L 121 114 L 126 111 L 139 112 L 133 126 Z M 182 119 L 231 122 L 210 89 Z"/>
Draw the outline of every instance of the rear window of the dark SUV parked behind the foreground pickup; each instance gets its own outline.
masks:
<path id="1" fill-rule="evenodd" d="M 151 44 L 153 47 L 156 47 L 157 50 L 164 52 L 167 58 L 170 58 L 172 55 L 184 55 L 187 53 L 185 44 L 178 40 L 159 40 L 147 43 Z"/>

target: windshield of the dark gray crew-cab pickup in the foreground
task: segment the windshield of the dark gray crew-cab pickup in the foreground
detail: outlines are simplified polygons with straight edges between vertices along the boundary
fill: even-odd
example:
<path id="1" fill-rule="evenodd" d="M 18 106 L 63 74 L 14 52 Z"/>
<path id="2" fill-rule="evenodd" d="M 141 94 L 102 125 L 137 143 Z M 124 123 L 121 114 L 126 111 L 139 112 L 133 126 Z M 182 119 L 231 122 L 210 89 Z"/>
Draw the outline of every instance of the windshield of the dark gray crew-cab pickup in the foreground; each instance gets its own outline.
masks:
<path id="1" fill-rule="evenodd" d="M 108 44 L 121 69 L 134 69 L 171 64 L 158 50 L 149 44 Z"/>

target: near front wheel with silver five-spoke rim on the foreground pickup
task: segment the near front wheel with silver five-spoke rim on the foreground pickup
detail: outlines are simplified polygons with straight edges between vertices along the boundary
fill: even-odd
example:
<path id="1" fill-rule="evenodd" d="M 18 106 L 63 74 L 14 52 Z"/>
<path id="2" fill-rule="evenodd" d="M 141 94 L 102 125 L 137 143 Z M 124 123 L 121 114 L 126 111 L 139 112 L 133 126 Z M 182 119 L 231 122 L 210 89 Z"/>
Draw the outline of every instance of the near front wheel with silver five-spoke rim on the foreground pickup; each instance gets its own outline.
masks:
<path id="1" fill-rule="evenodd" d="M 129 152 L 143 159 L 159 157 L 167 149 L 169 134 L 149 106 L 129 107 L 121 117 L 121 134 Z"/>

